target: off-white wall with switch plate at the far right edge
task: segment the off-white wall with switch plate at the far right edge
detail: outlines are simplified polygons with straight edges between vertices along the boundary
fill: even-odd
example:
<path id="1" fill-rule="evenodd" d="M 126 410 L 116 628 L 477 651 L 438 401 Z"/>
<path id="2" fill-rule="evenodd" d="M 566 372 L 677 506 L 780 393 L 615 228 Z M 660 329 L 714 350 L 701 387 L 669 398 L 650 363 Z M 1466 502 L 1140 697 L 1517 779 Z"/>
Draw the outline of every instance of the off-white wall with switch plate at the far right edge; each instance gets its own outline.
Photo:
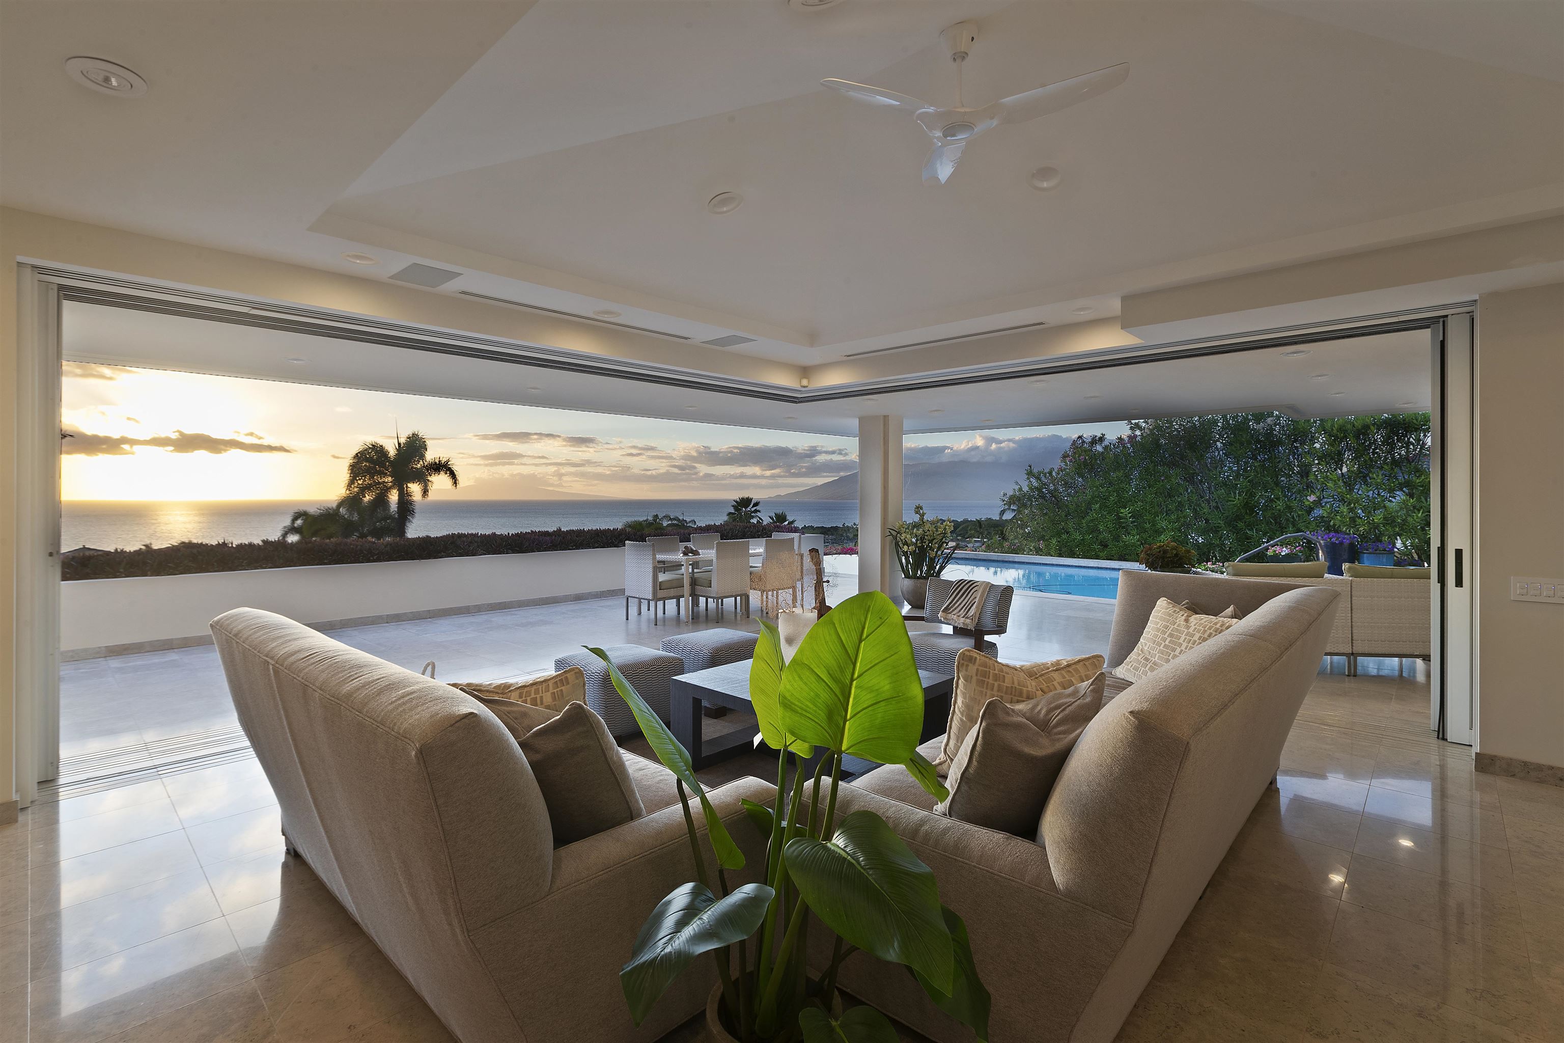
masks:
<path id="1" fill-rule="evenodd" d="M 1564 766 L 1564 605 L 1509 599 L 1564 579 L 1564 283 L 1476 310 L 1478 752 Z"/>

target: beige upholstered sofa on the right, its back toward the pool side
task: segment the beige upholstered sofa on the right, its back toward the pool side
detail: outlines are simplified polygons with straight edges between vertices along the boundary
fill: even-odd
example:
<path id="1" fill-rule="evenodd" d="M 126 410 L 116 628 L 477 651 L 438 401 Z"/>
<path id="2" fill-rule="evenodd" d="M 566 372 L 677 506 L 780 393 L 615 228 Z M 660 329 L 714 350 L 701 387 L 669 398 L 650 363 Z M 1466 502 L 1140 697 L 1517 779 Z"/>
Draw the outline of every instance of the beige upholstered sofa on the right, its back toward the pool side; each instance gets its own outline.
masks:
<path id="1" fill-rule="evenodd" d="M 965 918 L 993 993 L 993 1040 L 1114 1038 L 1273 779 L 1342 600 L 1292 583 L 1125 572 L 1109 666 L 1164 596 L 1209 613 L 1236 604 L 1245 618 L 1104 705 L 1035 838 L 931 813 L 902 768 L 841 790 L 848 812 L 877 812 L 934 868 L 942 901 Z M 971 1038 L 899 966 L 856 955 L 841 982 L 935 1040 Z"/>

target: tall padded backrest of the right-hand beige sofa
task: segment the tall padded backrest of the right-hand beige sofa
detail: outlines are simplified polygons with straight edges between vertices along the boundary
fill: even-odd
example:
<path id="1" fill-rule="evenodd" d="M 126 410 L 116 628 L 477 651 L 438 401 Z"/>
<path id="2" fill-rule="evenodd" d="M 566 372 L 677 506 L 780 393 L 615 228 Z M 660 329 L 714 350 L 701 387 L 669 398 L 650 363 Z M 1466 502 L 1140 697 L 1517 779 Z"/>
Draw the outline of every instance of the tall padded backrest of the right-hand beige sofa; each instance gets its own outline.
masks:
<path id="1" fill-rule="evenodd" d="M 1038 824 L 1062 894 L 1182 923 L 1276 771 L 1337 597 L 1284 591 L 1103 707 Z"/>

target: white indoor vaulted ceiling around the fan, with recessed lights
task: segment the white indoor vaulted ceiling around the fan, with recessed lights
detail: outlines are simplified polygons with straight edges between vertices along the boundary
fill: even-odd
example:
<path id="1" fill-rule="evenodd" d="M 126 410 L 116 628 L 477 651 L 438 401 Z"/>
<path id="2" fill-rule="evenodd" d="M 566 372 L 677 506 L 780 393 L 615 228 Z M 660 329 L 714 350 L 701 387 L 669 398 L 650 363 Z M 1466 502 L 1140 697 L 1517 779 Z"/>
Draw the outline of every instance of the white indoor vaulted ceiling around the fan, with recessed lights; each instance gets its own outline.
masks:
<path id="1" fill-rule="evenodd" d="M 0 202 L 810 364 L 1117 314 L 1132 291 L 1556 208 L 1553 0 L 8 0 Z M 1123 88 L 924 188 L 910 117 L 1117 61 Z M 67 80 L 100 55 L 135 100 Z M 898 117 L 899 116 L 899 117 Z M 1065 172 L 1053 192 L 1026 174 Z M 744 205 L 705 213 L 716 191 Z M 355 267 L 344 250 L 380 258 Z M 1228 260 L 1228 258 L 1239 258 Z M 951 358 L 962 349 L 952 347 Z"/>

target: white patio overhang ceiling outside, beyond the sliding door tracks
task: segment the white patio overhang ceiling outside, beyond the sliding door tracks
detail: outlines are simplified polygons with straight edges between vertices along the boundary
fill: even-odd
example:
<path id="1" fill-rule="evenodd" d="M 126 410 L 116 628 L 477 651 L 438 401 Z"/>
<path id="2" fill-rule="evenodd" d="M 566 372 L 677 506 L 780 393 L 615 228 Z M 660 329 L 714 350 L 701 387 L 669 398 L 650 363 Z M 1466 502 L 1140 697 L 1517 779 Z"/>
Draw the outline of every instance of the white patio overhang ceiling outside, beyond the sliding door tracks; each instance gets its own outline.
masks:
<path id="1" fill-rule="evenodd" d="M 849 436 L 857 416 L 871 413 L 901 414 L 913 435 L 1272 408 L 1293 416 L 1408 411 L 1426 410 L 1429 396 L 1426 332 L 810 403 L 80 302 L 66 302 L 63 336 L 72 361 Z M 1286 358 L 1282 350 L 1308 353 Z"/>

